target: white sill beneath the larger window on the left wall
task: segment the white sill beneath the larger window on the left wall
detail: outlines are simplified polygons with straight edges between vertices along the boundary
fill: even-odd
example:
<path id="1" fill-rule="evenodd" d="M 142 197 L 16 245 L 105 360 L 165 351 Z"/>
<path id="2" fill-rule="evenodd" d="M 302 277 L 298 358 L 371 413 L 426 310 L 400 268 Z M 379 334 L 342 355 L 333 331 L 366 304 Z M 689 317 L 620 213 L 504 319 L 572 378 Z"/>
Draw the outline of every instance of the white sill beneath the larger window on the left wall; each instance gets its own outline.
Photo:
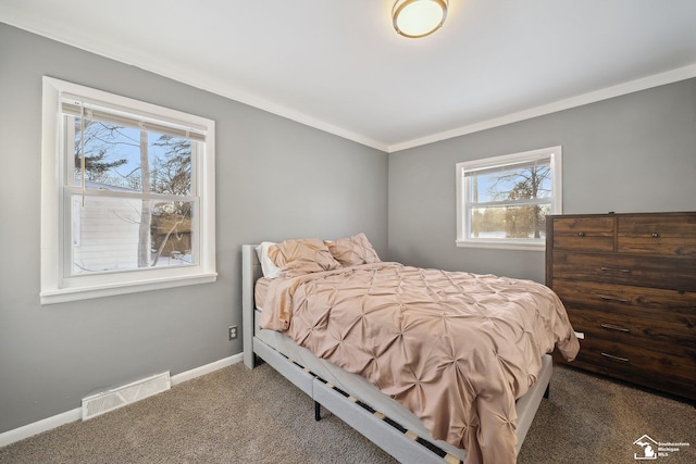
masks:
<path id="1" fill-rule="evenodd" d="M 90 300 L 94 298 L 113 297 L 116 294 L 137 293 L 150 290 L 188 285 L 210 284 L 217 279 L 217 273 L 197 274 L 177 278 L 150 279 L 136 283 L 120 283 L 114 285 L 95 285 L 91 287 L 62 288 L 46 290 L 40 293 L 41 304 L 65 303 L 70 301 Z"/>

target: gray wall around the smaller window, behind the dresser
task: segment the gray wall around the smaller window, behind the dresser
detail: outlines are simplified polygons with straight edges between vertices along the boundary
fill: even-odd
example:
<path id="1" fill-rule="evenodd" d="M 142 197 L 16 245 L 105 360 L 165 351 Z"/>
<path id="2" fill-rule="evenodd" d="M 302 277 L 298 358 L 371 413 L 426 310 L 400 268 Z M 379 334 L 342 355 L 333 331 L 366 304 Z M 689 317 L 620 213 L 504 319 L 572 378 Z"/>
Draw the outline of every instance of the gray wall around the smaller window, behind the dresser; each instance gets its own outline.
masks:
<path id="1" fill-rule="evenodd" d="M 389 258 L 544 281 L 544 252 L 457 248 L 460 161 L 560 145 L 563 212 L 696 210 L 696 79 L 389 154 Z"/>

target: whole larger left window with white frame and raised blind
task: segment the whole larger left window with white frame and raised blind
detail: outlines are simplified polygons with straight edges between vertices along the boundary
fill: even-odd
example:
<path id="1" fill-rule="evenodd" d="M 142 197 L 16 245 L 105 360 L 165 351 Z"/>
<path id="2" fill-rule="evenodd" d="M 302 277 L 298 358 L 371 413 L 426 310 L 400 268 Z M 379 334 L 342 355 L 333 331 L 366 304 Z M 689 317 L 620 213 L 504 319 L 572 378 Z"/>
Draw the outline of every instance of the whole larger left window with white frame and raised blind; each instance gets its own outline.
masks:
<path id="1" fill-rule="evenodd" d="M 214 123 L 44 78 L 41 302 L 208 283 Z"/>

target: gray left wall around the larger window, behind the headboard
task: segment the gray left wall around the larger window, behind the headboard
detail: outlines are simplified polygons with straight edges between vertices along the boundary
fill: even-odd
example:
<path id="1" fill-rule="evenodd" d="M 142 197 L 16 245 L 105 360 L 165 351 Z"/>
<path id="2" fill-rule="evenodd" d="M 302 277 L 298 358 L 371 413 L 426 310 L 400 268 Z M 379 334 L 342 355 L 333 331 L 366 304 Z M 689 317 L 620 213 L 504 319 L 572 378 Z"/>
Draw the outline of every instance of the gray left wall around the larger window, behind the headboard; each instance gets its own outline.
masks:
<path id="1" fill-rule="evenodd" d="M 239 353 L 243 243 L 364 231 L 386 254 L 385 153 L 4 24 L 0 43 L 0 432 Z M 44 75 L 215 120 L 215 284 L 39 305 Z"/>

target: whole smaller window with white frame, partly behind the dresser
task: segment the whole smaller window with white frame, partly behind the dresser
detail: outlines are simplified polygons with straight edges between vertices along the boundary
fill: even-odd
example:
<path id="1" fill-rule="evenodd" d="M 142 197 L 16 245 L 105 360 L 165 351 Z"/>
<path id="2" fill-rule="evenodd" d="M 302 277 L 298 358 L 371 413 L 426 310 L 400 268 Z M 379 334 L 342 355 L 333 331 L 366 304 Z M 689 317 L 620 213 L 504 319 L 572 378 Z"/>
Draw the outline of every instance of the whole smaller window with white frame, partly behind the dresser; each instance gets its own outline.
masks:
<path id="1" fill-rule="evenodd" d="M 543 250 L 561 204 L 561 147 L 457 164 L 460 247 Z"/>

